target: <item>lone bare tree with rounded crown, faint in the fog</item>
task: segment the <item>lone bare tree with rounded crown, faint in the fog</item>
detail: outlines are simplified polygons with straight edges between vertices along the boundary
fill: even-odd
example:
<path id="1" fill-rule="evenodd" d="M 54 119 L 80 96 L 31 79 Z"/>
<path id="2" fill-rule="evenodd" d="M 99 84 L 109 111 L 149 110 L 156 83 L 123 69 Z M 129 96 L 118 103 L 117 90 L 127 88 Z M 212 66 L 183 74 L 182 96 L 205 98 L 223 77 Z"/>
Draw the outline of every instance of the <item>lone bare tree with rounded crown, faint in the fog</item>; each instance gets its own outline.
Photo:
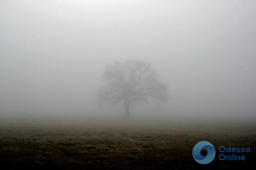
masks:
<path id="1" fill-rule="evenodd" d="M 129 118 L 129 107 L 153 98 L 159 105 L 168 100 L 166 84 L 161 83 L 151 63 L 128 60 L 106 65 L 103 81 L 98 91 L 98 104 L 124 102 L 125 118 Z"/>

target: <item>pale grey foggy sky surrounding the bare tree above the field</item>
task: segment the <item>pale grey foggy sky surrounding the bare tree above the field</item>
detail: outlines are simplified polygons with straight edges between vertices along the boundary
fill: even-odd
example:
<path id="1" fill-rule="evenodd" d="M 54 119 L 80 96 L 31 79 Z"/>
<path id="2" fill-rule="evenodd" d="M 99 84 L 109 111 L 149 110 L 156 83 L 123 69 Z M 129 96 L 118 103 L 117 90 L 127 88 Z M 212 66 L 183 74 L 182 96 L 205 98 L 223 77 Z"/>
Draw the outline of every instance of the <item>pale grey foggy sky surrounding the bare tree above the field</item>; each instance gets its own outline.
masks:
<path id="1" fill-rule="evenodd" d="M 170 100 L 131 117 L 256 118 L 256 1 L 1 1 L 0 117 L 118 116 L 105 65 L 152 63 Z"/>

